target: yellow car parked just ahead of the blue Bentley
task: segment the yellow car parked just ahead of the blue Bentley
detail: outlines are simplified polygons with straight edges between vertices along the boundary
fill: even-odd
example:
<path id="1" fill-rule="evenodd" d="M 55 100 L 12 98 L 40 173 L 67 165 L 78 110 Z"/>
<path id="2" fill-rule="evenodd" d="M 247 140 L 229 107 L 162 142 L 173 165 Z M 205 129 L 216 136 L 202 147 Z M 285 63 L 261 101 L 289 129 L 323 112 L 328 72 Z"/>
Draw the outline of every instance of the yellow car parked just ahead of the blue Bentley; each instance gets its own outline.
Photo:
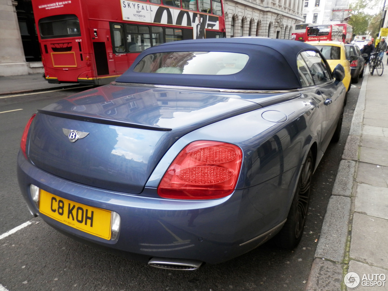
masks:
<path id="1" fill-rule="evenodd" d="M 343 78 L 342 83 L 349 91 L 352 76 L 350 75 L 350 61 L 346 56 L 345 44 L 343 42 L 332 42 L 327 40 L 306 43 L 314 45 L 314 47 L 317 47 L 320 50 L 327 63 L 329 64 L 331 71 L 333 71 L 338 64 L 341 64 L 344 67 L 345 78 Z"/>

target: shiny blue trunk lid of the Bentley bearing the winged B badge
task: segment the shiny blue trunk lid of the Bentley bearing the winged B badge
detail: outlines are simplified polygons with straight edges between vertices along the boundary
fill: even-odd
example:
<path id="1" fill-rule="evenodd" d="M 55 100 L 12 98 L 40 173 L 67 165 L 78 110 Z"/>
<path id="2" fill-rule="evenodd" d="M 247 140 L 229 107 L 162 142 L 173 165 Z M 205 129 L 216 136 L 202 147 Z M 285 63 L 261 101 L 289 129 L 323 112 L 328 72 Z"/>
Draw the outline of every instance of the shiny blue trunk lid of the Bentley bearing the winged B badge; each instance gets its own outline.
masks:
<path id="1" fill-rule="evenodd" d="M 27 153 L 38 168 L 55 176 L 139 194 L 177 139 L 260 107 L 206 92 L 107 85 L 39 110 Z"/>

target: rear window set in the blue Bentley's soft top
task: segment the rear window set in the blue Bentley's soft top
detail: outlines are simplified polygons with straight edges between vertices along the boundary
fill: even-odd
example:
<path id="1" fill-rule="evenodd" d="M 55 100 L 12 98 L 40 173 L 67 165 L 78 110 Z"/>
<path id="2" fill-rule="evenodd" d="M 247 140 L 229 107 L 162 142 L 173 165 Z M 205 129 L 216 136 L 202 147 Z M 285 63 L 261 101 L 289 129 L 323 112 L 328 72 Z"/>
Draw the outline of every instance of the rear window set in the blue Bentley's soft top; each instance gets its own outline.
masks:
<path id="1" fill-rule="evenodd" d="M 146 55 L 133 69 L 140 73 L 229 75 L 241 71 L 249 56 L 234 52 L 161 52 Z"/>

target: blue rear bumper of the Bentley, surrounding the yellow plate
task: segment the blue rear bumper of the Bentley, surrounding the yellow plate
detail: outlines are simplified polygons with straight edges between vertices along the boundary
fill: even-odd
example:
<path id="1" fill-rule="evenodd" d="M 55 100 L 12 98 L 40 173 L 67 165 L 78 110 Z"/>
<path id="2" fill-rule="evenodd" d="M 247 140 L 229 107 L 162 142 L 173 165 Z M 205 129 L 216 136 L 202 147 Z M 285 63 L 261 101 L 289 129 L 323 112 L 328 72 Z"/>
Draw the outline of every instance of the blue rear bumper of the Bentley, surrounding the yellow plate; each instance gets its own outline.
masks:
<path id="1" fill-rule="evenodd" d="M 273 204 L 277 209 L 263 205 L 267 215 L 257 209 L 263 204 L 252 203 L 252 197 L 260 196 L 258 186 L 234 191 L 221 199 L 200 201 L 156 198 L 154 188 L 145 188 L 142 196 L 105 191 L 50 175 L 29 163 L 21 153 L 17 175 L 33 215 L 40 215 L 68 236 L 113 252 L 124 252 L 141 261 L 164 257 L 220 263 L 270 239 L 280 230 L 288 212 L 288 209 L 279 209 L 282 204 L 279 202 Z M 30 197 L 30 184 L 64 199 L 119 213 L 118 238 L 108 241 L 43 215 Z M 265 201 L 273 194 L 262 192 L 261 195 Z"/>

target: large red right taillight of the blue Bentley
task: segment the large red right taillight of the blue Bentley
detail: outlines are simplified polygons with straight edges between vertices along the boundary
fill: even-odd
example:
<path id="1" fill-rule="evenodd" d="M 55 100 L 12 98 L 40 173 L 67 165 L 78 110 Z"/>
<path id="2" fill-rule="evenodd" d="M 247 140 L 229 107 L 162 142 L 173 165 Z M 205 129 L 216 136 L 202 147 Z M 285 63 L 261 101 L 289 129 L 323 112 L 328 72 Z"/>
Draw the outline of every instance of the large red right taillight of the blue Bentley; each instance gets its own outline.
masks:
<path id="1" fill-rule="evenodd" d="M 197 140 L 187 145 L 166 171 L 158 194 L 171 199 L 217 199 L 236 187 L 242 161 L 239 147 Z"/>

